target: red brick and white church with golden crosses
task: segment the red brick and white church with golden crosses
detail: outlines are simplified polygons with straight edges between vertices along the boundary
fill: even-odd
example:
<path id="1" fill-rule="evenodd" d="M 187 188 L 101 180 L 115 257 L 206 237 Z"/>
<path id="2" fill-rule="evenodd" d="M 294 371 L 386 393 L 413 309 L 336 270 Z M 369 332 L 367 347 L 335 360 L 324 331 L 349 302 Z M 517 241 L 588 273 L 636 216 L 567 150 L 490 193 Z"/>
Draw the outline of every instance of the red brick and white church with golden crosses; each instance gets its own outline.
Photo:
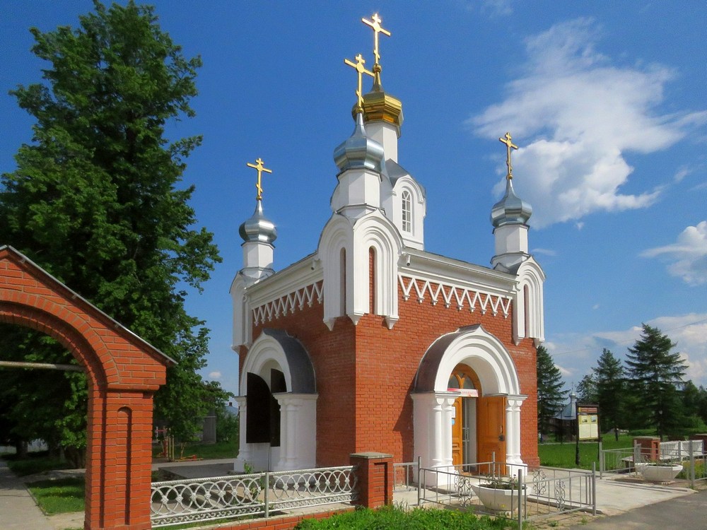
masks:
<path id="1" fill-rule="evenodd" d="M 491 209 L 491 267 L 427 252 L 426 192 L 398 160 L 402 102 L 382 88 L 375 58 L 358 75 L 354 132 L 338 167 L 317 251 L 273 269 L 276 228 L 255 213 L 240 226 L 243 268 L 230 287 L 240 357 L 236 471 L 349 464 L 356 452 L 421 457 L 425 467 L 539 464 L 536 348 L 544 273 L 528 252 L 532 208 L 513 190 Z M 363 80 L 373 78 L 363 94 Z M 344 117 L 342 117 L 344 119 Z M 333 176 L 333 175 L 332 175 Z M 332 178 L 332 182 L 334 179 Z M 491 206 L 491 205 L 489 205 Z"/>

